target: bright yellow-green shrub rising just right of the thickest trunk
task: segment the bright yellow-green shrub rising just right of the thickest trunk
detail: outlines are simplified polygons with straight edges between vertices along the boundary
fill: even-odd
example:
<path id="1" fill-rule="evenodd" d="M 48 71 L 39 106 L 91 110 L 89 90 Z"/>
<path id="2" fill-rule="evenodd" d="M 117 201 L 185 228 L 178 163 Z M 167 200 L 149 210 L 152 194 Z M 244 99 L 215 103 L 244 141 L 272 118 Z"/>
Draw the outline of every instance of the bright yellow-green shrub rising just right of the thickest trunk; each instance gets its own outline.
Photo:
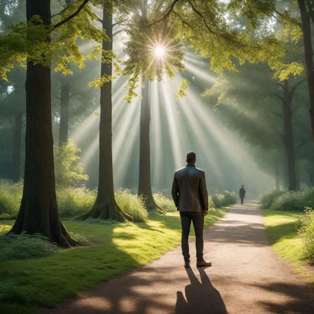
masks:
<path id="1" fill-rule="evenodd" d="M 77 153 L 81 152 L 74 143 L 69 140 L 66 145 L 59 146 L 55 154 L 55 181 L 57 187 L 74 186 L 79 180 L 88 180 L 84 175 L 84 164 L 78 162 Z"/>

